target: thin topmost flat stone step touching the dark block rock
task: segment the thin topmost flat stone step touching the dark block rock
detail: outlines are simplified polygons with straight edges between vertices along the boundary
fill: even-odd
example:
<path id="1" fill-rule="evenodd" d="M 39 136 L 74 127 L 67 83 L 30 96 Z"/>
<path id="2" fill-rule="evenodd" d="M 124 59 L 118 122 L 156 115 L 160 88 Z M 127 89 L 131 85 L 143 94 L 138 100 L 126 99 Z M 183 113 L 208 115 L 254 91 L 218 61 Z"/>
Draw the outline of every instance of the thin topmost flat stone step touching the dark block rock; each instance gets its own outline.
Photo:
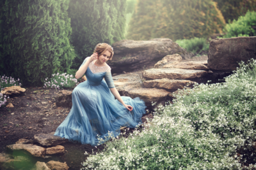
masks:
<path id="1" fill-rule="evenodd" d="M 175 64 L 170 63 L 170 64 L 164 65 L 163 68 L 209 70 L 209 68 L 207 67 L 207 60 L 179 62 L 179 63 L 175 63 Z"/>

